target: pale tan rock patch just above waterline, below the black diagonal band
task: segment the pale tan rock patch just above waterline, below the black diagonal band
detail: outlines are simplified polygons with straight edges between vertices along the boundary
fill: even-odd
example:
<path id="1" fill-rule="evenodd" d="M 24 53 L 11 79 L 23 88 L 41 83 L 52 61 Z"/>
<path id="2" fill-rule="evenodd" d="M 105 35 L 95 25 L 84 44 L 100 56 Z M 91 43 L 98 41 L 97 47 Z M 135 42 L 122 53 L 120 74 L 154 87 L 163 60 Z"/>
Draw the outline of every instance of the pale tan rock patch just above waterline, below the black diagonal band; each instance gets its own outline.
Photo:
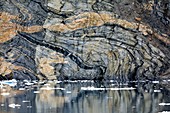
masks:
<path id="1" fill-rule="evenodd" d="M 38 46 L 36 48 L 37 73 L 41 79 L 57 79 L 58 72 L 55 65 L 67 63 L 62 54 L 47 48 Z M 41 76 L 41 74 L 44 75 Z"/>

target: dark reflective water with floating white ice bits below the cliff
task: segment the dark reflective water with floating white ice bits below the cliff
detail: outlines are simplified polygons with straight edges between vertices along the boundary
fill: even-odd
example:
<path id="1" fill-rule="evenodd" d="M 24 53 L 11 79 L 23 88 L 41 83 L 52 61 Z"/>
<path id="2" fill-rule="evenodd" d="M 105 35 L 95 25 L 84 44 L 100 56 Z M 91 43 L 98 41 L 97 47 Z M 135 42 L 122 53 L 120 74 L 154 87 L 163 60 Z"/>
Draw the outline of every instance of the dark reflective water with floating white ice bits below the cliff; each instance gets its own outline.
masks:
<path id="1" fill-rule="evenodd" d="M 170 113 L 169 81 L 0 83 L 0 113 Z"/>

